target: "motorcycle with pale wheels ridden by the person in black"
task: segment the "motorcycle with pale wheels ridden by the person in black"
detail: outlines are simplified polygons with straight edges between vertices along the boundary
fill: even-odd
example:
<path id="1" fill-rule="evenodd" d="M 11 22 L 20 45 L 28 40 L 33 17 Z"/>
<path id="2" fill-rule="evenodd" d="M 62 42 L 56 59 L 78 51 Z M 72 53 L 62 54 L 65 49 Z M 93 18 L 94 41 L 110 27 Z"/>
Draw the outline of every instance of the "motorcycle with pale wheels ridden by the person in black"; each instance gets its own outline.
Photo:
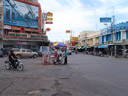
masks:
<path id="1" fill-rule="evenodd" d="M 15 66 L 16 66 L 16 69 L 18 69 L 19 71 L 23 71 L 23 69 L 24 69 L 24 66 L 21 63 L 21 60 L 19 60 L 19 59 L 16 60 Z M 7 70 L 13 69 L 13 66 L 12 66 L 11 62 L 9 61 L 9 59 L 7 59 L 5 61 L 5 68 Z"/>

